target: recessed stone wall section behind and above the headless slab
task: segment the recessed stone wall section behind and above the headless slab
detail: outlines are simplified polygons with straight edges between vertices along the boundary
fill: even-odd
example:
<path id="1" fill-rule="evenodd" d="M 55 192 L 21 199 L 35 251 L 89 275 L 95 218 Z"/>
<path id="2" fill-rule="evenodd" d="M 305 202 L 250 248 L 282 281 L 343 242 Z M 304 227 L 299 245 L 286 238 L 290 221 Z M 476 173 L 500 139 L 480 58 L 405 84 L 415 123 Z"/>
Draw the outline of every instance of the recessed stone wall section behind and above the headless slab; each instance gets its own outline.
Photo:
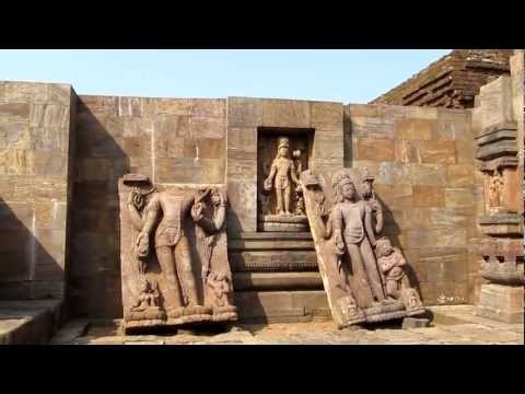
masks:
<path id="1" fill-rule="evenodd" d="M 118 177 L 224 183 L 225 100 L 80 96 L 70 310 L 119 317 Z"/>

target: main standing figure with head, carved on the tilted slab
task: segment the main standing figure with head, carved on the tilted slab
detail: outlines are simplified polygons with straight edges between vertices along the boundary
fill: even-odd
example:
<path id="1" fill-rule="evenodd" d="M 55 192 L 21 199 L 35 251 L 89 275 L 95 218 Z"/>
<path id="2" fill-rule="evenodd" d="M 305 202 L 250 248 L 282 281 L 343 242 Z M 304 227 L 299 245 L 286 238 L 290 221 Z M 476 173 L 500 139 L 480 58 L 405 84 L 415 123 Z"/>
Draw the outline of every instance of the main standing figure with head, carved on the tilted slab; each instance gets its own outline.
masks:
<path id="1" fill-rule="evenodd" d="M 366 202 L 358 199 L 355 186 L 347 173 L 338 173 L 332 179 L 335 206 L 332 208 L 332 231 L 337 254 L 350 258 L 350 273 L 358 279 L 373 303 L 385 300 L 385 293 L 377 263 L 372 250 L 375 235 L 372 229 L 371 211 Z"/>

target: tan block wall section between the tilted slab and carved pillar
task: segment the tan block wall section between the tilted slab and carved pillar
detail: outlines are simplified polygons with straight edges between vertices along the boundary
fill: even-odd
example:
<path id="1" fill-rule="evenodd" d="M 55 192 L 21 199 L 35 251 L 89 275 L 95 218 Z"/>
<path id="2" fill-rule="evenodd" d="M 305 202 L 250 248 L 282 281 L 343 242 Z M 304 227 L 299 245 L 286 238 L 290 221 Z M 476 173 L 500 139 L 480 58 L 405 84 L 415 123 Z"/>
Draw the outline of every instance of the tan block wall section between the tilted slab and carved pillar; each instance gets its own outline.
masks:
<path id="1" fill-rule="evenodd" d="M 345 165 L 376 176 L 385 234 L 413 268 L 423 302 L 474 302 L 483 195 L 469 112 L 390 105 L 348 105 L 345 112 Z"/>

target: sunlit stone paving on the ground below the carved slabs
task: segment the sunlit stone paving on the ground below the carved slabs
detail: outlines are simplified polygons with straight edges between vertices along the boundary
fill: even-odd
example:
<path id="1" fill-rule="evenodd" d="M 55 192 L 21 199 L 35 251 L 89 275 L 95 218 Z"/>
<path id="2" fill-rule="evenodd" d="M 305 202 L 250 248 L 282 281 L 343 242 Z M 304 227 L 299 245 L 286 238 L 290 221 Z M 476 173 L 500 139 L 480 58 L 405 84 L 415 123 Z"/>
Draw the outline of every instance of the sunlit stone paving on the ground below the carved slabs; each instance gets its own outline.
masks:
<path id="1" fill-rule="evenodd" d="M 229 332 L 179 331 L 177 335 L 124 335 L 114 324 L 73 321 L 52 338 L 62 345 L 523 345 L 523 324 L 475 315 L 475 306 L 431 308 L 430 327 L 400 326 L 339 331 L 331 321 L 240 324 Z"/>

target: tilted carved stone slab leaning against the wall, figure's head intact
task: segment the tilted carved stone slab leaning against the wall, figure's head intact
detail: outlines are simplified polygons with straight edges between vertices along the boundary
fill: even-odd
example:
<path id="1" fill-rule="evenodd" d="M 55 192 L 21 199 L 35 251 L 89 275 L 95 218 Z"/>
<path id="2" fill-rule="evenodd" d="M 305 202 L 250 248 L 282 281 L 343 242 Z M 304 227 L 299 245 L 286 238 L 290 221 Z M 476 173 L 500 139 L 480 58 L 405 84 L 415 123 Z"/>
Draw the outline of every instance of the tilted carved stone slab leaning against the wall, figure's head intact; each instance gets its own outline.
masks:
<path id="1" fill-rule="evenodd" d="M 319 273 L 339 328 L 425 312 L 406 260 L 383 230 L 383 209 L 366 171 L 304 171 L 301 183 Z"/>

